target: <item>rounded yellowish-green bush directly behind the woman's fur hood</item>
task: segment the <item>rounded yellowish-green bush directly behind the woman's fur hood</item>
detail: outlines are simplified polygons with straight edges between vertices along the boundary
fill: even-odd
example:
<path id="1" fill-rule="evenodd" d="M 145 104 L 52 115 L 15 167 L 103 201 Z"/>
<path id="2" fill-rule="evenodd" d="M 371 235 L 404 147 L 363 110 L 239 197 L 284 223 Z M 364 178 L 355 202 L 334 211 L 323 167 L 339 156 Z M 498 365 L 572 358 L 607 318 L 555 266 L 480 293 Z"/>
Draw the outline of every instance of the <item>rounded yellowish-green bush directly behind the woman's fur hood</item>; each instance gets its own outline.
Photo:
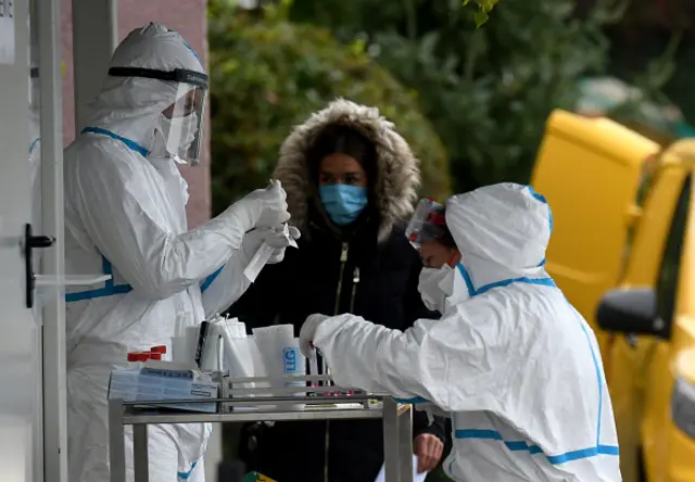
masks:
<path id="1" fill-rule="evenodd" d="M 441 140 L 415 94 L 371 61 L 364 41 L 342 46 L 329 30 L 292 25 L 282 5 L 258 16 L 222 0 L 208 5 L 208 41 L 216 212 L 265 186 L 291 128 L 336 97 L 379 107 L 422 160 L 422 192 L 450 193 Z"/>

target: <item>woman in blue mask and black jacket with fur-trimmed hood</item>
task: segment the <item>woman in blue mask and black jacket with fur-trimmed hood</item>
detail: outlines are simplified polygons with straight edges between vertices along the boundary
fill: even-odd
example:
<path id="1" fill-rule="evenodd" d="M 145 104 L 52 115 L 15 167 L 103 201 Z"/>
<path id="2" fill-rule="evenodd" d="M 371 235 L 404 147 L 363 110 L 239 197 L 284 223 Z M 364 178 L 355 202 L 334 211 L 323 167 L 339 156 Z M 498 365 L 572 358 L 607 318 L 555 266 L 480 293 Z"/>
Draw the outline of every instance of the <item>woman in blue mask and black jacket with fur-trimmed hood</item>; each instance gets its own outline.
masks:
<path id="1" fill-rule="evenodd" d="M 405 237 L 419 162 L 377 109 L 337 100 L 296 127 L 280 149 L 282 182 L 299 250 L 266 266 L 229 312 L 248 327 L 292 324 L 314 313 L 352 313 L 405 330 L 438 318 L 418 293 L 420 258 Z M 442 453 L 443 420 L 414 420 L 419 469 Z M 381 420 L 285 422 L 253 433 L 243 458 L 280 482 L 372 482 L 383 464 Z"/>

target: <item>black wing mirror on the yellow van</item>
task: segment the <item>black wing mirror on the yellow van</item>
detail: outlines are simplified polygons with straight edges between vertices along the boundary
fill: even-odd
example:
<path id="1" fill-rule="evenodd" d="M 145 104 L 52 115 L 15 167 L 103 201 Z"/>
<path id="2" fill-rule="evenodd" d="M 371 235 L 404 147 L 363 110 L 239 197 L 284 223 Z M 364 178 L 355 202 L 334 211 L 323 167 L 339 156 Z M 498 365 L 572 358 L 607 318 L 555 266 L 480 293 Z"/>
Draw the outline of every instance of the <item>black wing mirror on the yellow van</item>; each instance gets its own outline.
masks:
<path id="1" fill-rule="evenodd" d="M 650 288 L 610 290 L 598 303 L 596 321 L 606 331 L 668 338 L 657 307 L 656 293 Z"/>

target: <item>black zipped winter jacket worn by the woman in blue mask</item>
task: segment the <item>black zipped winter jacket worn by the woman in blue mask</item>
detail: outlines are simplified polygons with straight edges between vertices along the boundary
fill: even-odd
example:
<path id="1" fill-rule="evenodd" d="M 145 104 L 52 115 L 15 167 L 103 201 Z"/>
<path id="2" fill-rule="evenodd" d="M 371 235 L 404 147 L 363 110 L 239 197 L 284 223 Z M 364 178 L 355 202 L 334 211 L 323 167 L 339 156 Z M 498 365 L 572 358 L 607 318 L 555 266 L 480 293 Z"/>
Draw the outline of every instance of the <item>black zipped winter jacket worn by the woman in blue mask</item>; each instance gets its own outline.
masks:
<path id="1" fill-rule="evenodd" d="M 299 250 L 288 250 L 281 264 L 266 266 L 229 314 L 248 328 L 292 324 L 299 335 L 307 316 L 336 313 L 339 295 L 338 313 L 354 313 L 389 328 L 405 330 L 417 318 L 437 318 L 420 301 L 421 263 L 403 227 L 396 226 L 381 245 L 370 231 L 343 244 L 332 233 L 312 229 L 312 240 L 300 240 Z M 278 482 L 323 482 L 326 460 L 330 482 L 372 482 L 383 462 L 381 430 L 380 420 L 276 423 L 258 436 L 257 453 L 244 458 Z M 414 432 L 444 441 L 443 422 L 428 428 L 422 411 L 415 411 Z"/>

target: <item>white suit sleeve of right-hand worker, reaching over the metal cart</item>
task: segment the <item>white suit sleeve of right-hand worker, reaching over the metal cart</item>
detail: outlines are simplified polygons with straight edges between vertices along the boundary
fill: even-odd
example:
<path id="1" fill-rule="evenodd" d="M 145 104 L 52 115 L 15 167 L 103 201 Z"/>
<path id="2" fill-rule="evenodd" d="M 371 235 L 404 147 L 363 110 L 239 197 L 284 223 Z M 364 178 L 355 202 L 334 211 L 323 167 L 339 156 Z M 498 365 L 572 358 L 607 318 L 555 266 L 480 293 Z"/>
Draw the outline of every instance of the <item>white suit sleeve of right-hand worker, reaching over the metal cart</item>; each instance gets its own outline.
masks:
<path id="1" fill-rule="evenodd" d="M 521 324 L 503 319 L 492 299 L 469 300 L 405 332 L 336 316 L 319 325 L 314 344 L 340 385 L 420 398 L 447 411 L 494 409 L 519 376 L 523 350 L 509 350 Z"/>

